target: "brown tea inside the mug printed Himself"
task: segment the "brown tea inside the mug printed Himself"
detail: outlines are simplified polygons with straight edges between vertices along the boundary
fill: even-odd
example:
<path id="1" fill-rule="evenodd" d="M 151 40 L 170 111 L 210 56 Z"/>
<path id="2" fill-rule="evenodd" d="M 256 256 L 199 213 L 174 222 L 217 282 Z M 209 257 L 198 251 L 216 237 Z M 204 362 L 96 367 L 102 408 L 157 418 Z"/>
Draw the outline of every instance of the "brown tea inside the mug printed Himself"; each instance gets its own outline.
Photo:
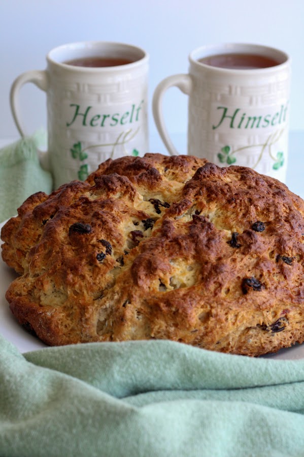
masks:
<path id="1" fill-rule="evenodd" d="M 231 70 L 254 70 L 259 68 L 275 67 L 279 65 L 272 57 L 259 54 L 228 53 L 215 54 L 198 59 L 198 62 L 211 67 L 226 68 Z"/>

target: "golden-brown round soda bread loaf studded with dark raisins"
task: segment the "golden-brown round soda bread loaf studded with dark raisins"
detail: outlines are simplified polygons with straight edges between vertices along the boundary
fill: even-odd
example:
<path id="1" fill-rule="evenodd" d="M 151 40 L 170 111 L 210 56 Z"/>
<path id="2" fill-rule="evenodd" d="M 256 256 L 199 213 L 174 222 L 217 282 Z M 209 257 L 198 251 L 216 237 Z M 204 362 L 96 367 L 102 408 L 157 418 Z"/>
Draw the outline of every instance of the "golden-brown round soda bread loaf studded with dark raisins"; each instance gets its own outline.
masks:
<path id="1" fill-rule="evenodd" d="M 49 345 L 171 339 L 257 356 L 304 340 L 304 203 L 191 156 L 107 162 L 2 230 L 18 321 Z"/>

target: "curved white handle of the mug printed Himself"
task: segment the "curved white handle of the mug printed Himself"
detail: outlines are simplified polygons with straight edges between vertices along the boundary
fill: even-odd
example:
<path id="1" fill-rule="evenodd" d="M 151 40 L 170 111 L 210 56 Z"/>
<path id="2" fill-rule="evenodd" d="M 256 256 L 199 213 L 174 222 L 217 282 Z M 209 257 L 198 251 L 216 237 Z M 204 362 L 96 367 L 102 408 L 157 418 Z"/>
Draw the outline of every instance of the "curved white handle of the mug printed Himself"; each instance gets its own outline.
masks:
<path id="1" fill-rule="evenodd" d="M 152 100 L 152 111 L 158 133 L 171 156 L 179 153 L 172 143 L 164 124 L 162 113 L 162 98 L 164 92 L 170 87 L 178 87 L 184 94 L 189 95 L 192 87 L 192 79 L 188 74 L 177 74 L 163 79 L 156 87 Z"/>

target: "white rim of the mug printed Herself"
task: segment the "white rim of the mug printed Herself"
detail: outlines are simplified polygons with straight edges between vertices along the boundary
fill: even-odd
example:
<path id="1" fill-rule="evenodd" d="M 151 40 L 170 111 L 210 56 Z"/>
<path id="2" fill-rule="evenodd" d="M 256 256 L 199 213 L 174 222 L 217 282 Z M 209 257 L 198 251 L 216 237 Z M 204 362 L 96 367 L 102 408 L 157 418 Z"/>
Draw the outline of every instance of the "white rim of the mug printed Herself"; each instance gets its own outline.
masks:
<path id="1" fill-rule="evenodd" d="M 122 49 L 125 51 L 132 51 L 133 53 L 137 52 L 138 54 L 141 54 L 137 60 L 134 60 L 134 62 L 130 62 L 129 64 L 123 64 L 123 65 L 116 65 L 116 66 L 111 66 L 111 67 L 81 67 L 78 65 L 71 65 L 71 64 L 66 64 L 64 63 L 64 60 L 72 60 L 73 56 L 71 58 L 67 57 L 62 60 L 59 58 L 55 58 L 54 54 L 56 53 L 63 53 L 65 52 L 77 52 L 83 50 L 83 54 L 86 55 L 79 55 L 74 58 L 81 58 L 81 57 L 90 57 L 88 50 L 96 50 L 100 49 L 101 47 L 108 47 L 109 49 L 112 48 L 114 49 Z M 62 55 L 62 54 L 61 54 Z M 65 43 L 61 44 L 59 46 L 56 46 L 55 48 L 51 49 L 46 56 L 47 62 L 49 64 L 53 64 L 56 66 L 61 67 L 62 69 L 65 69 L 67 71 L 79 71 L 79 72 L 113 72 L 113 71 L 122 71 L 122 70 L 128 70 L 128 69 L 133 69 L 134 67 L 143 65 L 144 63 L 147 63 L 149 60 L 149 54 L 147 51 L 145 51 L 143 48 L 133 45 L 133 44 L 128 44 L 128 43 L 123 43 L 123 42 L 116 42 L 116 41 L 76 41 L 76 42 L 71 42 L 71 43 Z"/>

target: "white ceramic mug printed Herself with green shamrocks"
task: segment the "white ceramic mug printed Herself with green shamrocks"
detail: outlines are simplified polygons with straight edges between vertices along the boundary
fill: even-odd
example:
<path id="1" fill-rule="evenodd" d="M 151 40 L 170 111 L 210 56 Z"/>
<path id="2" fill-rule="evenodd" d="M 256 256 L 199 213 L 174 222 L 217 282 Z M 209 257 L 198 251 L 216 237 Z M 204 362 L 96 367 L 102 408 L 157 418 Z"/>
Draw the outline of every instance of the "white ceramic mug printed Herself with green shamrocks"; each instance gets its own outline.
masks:
<path id="1" fill-rule="evenodd" d="M 87 57 L 129 63 L 97 68 L 66 63 Z M 86 179 L 108 158 L 148 152 L 148 60 L 143 49 L 128 44 L 71 43 L 48 53 L 46 70 L 16 78 L 11 110 L 21 136 L 19 89 L 32 82 L 47 94 L 48 153 L 41 161 L 53 174 L 54 188 Z"/>

